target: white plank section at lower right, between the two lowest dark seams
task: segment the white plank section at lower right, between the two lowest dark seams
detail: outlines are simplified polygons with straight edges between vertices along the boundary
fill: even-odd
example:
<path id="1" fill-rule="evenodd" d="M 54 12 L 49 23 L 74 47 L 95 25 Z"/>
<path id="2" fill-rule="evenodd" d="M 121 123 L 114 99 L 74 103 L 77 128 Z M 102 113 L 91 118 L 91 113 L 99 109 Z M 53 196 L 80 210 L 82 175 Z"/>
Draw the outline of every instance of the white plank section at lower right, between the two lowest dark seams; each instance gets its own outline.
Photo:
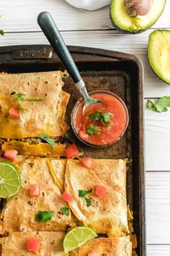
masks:
<path id="1" fill-rule="evenodd" d="M 146 173 L 148 244 L 170 244 L 170 173 Z M 159 256 L 162 256 L 161 254 Z"/>

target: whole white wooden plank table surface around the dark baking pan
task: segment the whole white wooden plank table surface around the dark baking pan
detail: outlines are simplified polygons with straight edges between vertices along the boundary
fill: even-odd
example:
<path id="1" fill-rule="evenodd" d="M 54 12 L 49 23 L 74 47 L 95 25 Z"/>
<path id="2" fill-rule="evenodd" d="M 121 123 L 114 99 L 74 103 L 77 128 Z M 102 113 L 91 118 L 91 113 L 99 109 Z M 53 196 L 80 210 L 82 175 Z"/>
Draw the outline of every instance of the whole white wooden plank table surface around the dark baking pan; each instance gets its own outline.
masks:
<path id="1" fill-rule="evenodd" d="M 80 0 L 81 1 L 81 0 Z M 160 0 L 161 1 L 161 0 Z M 109 7 L 95 12 L 78 10 L 64 0 L 1 1 L 0 46 L 48 43 L 37 25 L 37 14 L 50 12 L 68 45 L 90 46 L 135 54 L 144 66 L 144 97 L 170 95 L 170 87 L 153 74 L 148 64 L 148 35 L 169 28 L 169 6 L 153 27 L 139 35 L 122 35 L 112 27 Z M 170 255 L 170 111 L 145 110 L 146 205 L 149 256 Z"/>

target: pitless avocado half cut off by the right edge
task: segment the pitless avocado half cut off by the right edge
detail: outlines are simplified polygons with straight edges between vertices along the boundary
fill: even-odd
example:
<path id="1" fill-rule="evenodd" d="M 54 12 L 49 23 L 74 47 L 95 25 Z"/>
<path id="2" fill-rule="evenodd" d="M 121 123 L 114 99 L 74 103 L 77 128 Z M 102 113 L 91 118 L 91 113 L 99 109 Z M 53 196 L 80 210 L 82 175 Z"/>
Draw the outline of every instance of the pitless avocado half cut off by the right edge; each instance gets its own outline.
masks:
<path id="1" fill-rule="evenodd" d="M 158 77 L 170 84 L 170 30 L 155 30 L 149 35 L 148 59 Z"/>

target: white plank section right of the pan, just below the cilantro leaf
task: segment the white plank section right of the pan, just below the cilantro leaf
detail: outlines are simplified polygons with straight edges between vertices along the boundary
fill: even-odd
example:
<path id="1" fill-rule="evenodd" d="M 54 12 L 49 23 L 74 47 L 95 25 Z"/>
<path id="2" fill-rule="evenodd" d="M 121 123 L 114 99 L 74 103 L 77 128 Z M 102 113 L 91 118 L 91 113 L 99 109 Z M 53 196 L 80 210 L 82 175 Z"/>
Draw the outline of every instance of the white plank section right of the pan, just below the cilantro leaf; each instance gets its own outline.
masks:
<path id="1" fill-rule="evenodd" d="M 145 128 L 146 171 L 169 171 L 170 111 L 156 113 L 146 109 Z"/>

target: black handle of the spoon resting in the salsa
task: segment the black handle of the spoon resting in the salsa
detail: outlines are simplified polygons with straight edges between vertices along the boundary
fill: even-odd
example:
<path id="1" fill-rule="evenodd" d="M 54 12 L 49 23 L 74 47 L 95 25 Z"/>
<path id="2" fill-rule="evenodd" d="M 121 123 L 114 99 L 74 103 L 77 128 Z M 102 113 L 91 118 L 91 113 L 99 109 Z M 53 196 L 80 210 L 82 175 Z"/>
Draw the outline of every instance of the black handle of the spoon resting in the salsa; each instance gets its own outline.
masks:
<path id="1" fill-rule="evenodd" d="M 70 74 L 73 82 L 80 82 L 82 78 L 79 70 L 77 69 L 75 62 L 73 61 L 73 58 L 71 57 L 71 54 L 68 51 L 66 44 L 64 43 L 58 27 L 55 25 L 53 17 L 49 12 L 41 12 L 37 17 L 37 22 L 40 25 L 46 38 L 48 38 L 50 45 L 58 54 L 59 59 L 63 63 L 63 66 L 67 69 L 68 74 Z"/>

